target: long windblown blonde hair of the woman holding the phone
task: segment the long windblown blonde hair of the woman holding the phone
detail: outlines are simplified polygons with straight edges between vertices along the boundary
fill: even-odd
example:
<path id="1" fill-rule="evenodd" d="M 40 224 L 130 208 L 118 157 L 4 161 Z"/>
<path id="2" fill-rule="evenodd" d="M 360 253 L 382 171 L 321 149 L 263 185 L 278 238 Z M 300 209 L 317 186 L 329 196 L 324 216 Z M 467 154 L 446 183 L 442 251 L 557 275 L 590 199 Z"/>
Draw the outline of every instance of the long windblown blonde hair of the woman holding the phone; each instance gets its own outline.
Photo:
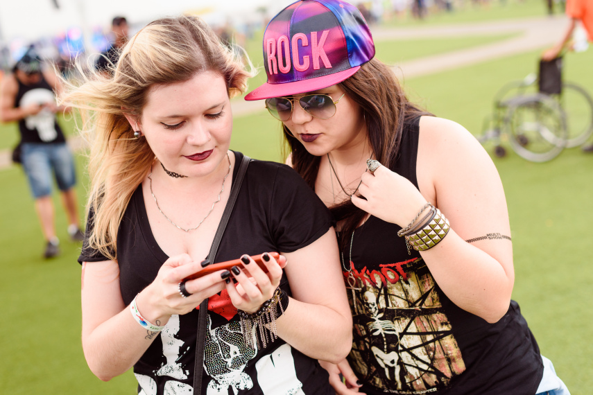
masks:
<path id="1" fill-rule="evenodd" d="M 168 17 L 151 22 L 132 37 L 119 62 L 107 72 L 89 71 L 83 73 L 80 84 L 66 84 L 62 102 L 80 110 L 79 129 L 91 140 L 87 207 L 94 226 L 89 247 L 117 259 L 123 213 L 155 157 L 146 139 L 133 138 L 124 114 L 139 119 L 153 85 L 186 81 L 204 71 L 220 73 L 232 98 L 246 91 L 252 69 L 244 51 L 237 53 L 223 45 L 198 17 Z"/>

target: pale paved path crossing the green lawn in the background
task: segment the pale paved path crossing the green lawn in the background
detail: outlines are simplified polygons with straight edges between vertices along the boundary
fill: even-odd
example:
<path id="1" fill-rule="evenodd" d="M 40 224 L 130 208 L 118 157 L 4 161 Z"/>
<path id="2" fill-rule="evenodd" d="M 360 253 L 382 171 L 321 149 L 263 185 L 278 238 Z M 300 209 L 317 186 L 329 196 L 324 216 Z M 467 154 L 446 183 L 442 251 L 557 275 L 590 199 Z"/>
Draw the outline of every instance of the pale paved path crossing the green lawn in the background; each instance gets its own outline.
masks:
<path id="1" fill-rule="evenodd" d="M 510 19 L 506 21 L 486 21 L 454 26 L 429 26 L 411 28 L 372 28 L 373 38 L 379 40 L 409 40 L 413 38 L 431 37 L 468 37 L 471 35 L 504 35 L 517 33 L 517 37 L 508 40 L 460 49 L 440 55 L 432 55 L 396 64 L 393 67 L 397 77 L 413 78 L 427 76 L 432 73 L 457 69 L 481 62 L 488 62 L 518 53 L 535 51 L 551 46 L 560 40 L 567 27 L 565 17 L 533 17 L 526 19 Z M 263 71 L 261 71 L 263 72 Z M 233 100 L 234 116 L 243 116 L 264 111 L 261 101 L 247 102 Z M 82 140 L 70 139 L 69 145 L 74 150 L 84 147 Z M 10 166 L 10 151 L 0 151 L 0 169 Z"/>

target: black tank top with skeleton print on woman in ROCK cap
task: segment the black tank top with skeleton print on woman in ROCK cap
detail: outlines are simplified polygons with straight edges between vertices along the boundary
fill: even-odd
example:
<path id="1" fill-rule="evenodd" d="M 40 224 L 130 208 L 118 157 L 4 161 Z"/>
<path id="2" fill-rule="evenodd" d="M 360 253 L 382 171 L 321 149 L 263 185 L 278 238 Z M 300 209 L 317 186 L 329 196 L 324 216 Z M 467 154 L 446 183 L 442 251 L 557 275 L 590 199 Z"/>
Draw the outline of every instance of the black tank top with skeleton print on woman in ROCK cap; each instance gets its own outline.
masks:
<path id="1" fill-rule="evenodd" d="M 419 122 L 404 125 L 391 169 L 416 188 Z M 496 324 L 458 308 L 420 253 L 408 254 L 399 229 L 371 216 L 354 236 L 342 235 L 352 240 L 342 265 L 354 319 L 348 360 L 363 383 L 361 392 L 535 394 L 542 359 L 517 303 L 511 301 Z"/>

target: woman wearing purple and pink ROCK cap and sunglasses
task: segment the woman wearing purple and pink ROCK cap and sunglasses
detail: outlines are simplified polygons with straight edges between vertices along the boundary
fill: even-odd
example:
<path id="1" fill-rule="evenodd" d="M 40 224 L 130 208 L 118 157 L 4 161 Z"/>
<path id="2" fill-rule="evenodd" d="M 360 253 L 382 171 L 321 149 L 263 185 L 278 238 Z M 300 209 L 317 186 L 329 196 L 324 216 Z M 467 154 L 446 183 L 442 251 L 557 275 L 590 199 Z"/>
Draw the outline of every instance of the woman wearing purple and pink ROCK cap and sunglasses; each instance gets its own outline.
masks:
<path id="1" fill-rule="evenodd" d="M 470 132 L 411 103 L 345 1 L 302 0 L 264 33 L 286 159 L 338 223 L 352 350 L 338 394 L 568 394 L 510 299 L 502 184 Z M 343 378 L 343 380 L 341 380 Z"/>

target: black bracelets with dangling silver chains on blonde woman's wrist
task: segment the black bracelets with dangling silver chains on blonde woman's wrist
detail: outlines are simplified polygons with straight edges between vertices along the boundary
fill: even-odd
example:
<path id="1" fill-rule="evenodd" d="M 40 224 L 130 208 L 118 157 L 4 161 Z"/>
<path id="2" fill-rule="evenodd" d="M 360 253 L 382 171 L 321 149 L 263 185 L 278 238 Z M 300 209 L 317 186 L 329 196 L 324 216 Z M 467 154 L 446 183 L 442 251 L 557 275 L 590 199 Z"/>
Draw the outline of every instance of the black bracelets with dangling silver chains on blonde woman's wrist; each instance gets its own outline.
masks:
<path id="1" fill-rule="evenodd" d="M 265 301 L 255 313 L 250 314 L 238 310 L 241 319 L 241 332 L 246 344 L 255 348 L 257 343 L 258 346 L 261 344 L 265 348 L 266 344 L 274 342 L 278 338 L 276 319 L 284 314 L 288 306 L 289 295 L 286 295 L 286 292 L 280 288 L 276 288 L 274 295 Z"/>

